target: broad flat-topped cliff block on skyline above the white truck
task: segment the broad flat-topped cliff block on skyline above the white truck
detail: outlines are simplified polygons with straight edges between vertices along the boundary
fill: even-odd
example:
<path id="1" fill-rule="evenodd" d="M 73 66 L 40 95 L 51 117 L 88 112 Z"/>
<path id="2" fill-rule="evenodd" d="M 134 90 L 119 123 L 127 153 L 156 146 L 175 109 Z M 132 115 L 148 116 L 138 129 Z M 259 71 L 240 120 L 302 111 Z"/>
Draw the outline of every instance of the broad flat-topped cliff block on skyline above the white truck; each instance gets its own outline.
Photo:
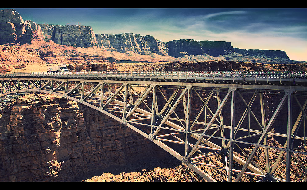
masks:
<path id="1" fill-rule="evenodd" d="M 74 47 L 98 46 L 94 31 L 90 26 L 55 25 L 51 40 L 60 45 Z"/>

